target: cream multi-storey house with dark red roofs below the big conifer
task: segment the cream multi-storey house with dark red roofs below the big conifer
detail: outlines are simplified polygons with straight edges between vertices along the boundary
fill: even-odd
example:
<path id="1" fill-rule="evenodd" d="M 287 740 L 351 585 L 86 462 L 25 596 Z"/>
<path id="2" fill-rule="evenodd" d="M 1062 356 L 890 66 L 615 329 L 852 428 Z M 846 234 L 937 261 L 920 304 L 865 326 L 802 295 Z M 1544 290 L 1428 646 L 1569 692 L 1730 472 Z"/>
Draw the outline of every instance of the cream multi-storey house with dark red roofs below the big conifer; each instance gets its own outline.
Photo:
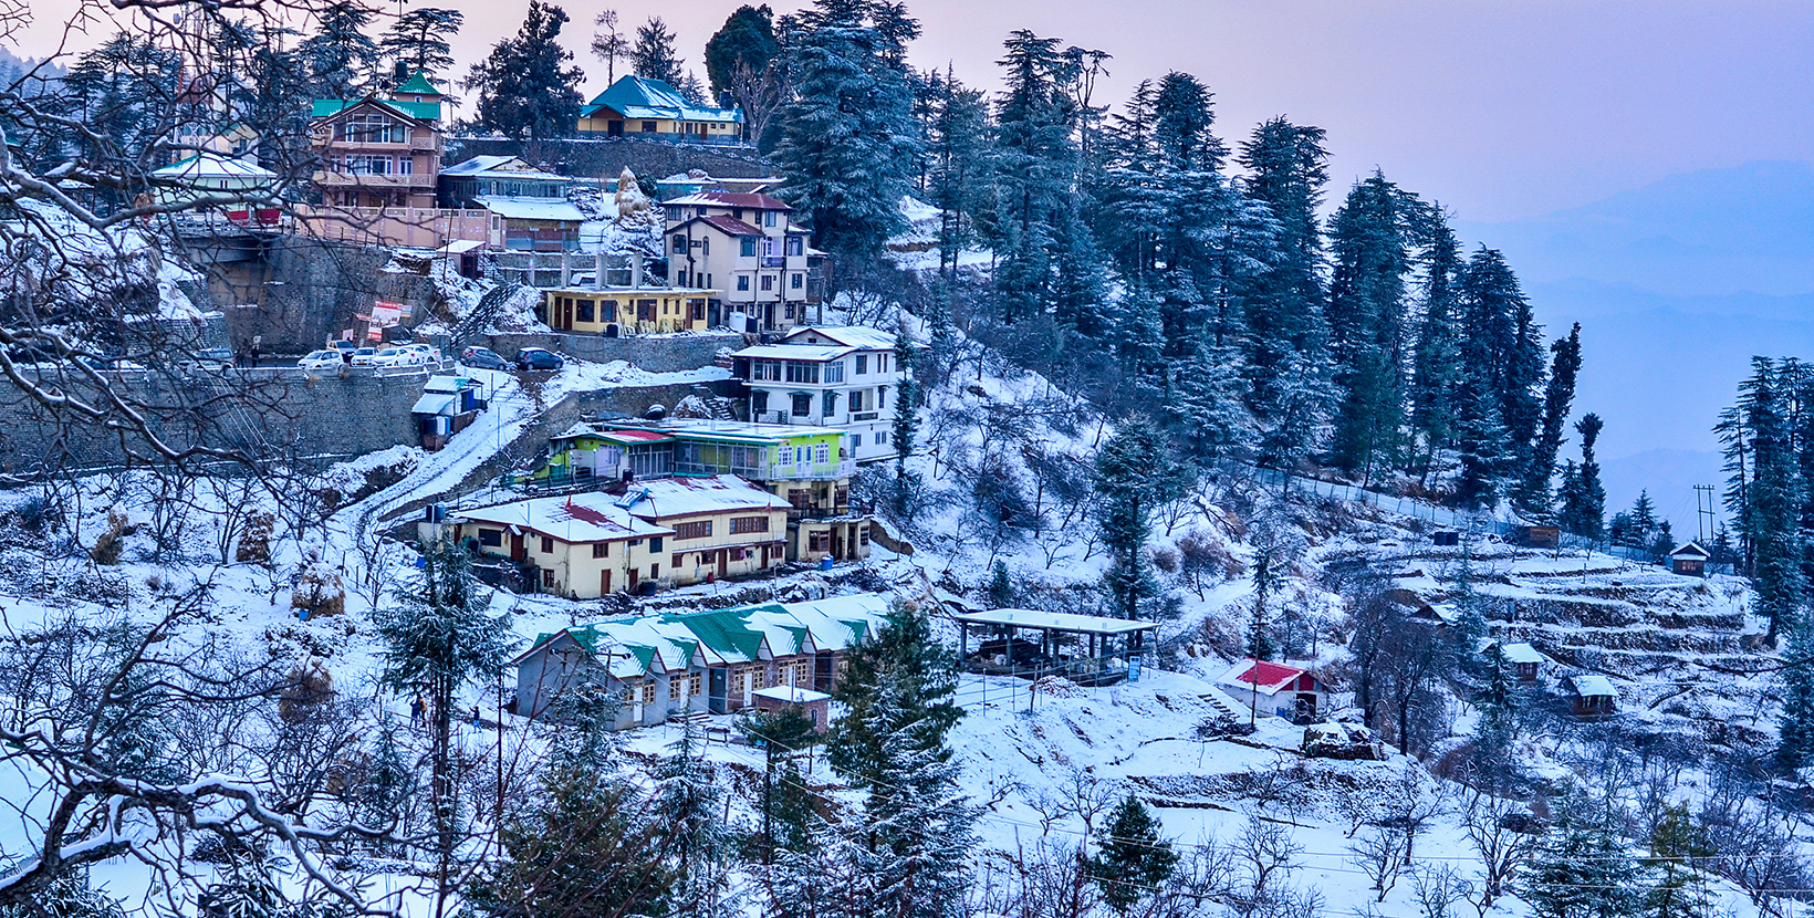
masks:
<path id="1" fill-rule="evenodd" d="M 662 201 L 668 212 L 668 279 L 722 290 L 711 325 L 733 312 L 764 332 L 807 321 L 824 296 L 824 261 L 807 249 L 785 201 L 758 192 L 700 190 Z M 747 328 L 738 328 L 747 330 Z"/>

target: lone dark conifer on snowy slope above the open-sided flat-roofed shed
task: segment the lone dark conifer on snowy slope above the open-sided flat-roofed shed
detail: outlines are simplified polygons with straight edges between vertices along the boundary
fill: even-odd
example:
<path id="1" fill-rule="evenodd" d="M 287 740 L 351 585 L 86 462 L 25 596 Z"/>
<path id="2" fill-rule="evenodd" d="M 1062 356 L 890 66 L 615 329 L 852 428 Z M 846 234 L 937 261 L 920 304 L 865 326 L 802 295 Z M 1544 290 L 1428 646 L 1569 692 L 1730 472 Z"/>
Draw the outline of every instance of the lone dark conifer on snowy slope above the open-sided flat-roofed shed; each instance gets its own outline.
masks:
<path id="1" fill-rule="evenodd" d="M 1114 559 L 1103 588 L 1121 619 L 1137 619 L 1141 604 L 1159 595 L 1146 561 L 1146 533 L 1168 466 L 1165 439 L 1143 419 L 1125 423 L 1096 455 L 1103 542 Z"/>

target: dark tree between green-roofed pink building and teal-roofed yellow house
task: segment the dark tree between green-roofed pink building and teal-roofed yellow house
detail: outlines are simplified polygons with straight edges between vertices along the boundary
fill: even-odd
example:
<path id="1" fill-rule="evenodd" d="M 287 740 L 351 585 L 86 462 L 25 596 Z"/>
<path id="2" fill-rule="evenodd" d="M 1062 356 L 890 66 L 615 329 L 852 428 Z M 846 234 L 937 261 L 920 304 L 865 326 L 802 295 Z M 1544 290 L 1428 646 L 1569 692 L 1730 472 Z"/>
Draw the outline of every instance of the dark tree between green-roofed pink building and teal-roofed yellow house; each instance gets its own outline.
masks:
<path id="1" fill-rule="evenodd" d="M 573 53 L 561 47 L 566 22 L 564 9 L 530 0 L 522 29 L 472 65 L 461 85 L 479 91 L 473 127 L 530 142 L 573 134 L 586 74 L 570 65 Z"/>

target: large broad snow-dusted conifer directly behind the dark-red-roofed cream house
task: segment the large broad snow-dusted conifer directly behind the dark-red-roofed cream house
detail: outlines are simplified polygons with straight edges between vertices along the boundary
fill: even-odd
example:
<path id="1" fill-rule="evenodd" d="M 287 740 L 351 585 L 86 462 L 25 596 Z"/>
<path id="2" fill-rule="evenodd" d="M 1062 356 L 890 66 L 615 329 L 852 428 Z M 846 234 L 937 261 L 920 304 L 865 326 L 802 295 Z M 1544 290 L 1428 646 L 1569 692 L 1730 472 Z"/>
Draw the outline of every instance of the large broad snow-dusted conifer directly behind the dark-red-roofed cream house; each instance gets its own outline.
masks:
<path id="1" fill-rule="evenodd" d="M 851 263 L 903 227 L 900 200 L 920 151 L 907 71 L 891 60 L 903 38 L 882 34 L 876 15 L 874 2 L 816 0 L 785 40 L 795 102 L 775 149 L 782 198 L 813 227 L 814 245 Z"/>

